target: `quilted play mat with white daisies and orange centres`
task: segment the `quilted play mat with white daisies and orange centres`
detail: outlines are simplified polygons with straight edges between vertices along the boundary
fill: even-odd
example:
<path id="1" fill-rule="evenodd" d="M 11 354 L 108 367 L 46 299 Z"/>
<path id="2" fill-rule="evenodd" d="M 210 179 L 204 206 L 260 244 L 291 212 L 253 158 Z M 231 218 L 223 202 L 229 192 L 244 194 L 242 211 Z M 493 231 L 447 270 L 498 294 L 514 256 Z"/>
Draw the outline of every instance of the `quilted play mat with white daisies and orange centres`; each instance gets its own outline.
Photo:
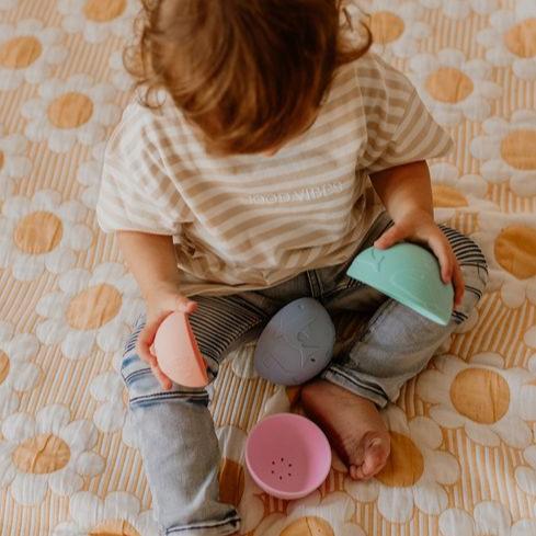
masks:
<path id="1" fill-rule="evenodd" d="M 490 265 L 475 315 L 385 410 L 392 455 L 355 482 L 333 457 L 298 501 L 252 482 L 243 446 L 298 388 L 253 345 L 213 388 L 220 497 L 248 536 L 536 535 L 536 2 L 363 0 L 455 150 L 431 162 L 435 215 Z M 128 99 L 133 0 L 0 0 L 0 533 L 157 536 L 117 374 L 142 308 L 94 207 Z M 338 351 L 351 340 L 341 319 Z"/>

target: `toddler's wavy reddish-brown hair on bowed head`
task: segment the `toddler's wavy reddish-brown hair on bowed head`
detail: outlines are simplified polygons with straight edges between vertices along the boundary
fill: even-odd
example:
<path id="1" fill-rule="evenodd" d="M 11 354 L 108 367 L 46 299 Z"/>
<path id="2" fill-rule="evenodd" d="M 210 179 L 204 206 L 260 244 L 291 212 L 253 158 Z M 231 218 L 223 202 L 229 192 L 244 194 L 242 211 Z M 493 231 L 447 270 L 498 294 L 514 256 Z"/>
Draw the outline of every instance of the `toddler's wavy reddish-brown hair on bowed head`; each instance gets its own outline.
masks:
<path id="1" fill-rule="evenodd" d="M 142 0 L 126 68 L 153 107 L 164 88 L 209 150 L 253 153 L 301 132 L 350 45 L 340 0 Z M 351 20 L 346 14 L 346 22 Z M 133 54 L 134 53 L 134 54 Z M 137 60 L 136 60 L 137 59 Z"/>

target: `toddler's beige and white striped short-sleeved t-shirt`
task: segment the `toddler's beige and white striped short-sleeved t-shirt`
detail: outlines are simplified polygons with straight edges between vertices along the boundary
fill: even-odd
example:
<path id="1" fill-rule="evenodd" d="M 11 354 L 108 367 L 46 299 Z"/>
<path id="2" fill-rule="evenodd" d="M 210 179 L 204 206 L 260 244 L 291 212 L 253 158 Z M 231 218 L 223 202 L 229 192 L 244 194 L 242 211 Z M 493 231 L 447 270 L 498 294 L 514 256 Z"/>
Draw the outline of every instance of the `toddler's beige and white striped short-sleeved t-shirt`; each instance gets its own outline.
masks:
<path id="1" fill-rule="evenodd" d="M 368 53 L 273 156 L 212 156 L 170 98 L 158 112 L 133 100 L 106 146 L 96 216 L 104 232 L 172 236 L 186 296 L 262 288 L 347 260 L 381 210 L 368 174 L 451 146 L 409 80 Z"/>

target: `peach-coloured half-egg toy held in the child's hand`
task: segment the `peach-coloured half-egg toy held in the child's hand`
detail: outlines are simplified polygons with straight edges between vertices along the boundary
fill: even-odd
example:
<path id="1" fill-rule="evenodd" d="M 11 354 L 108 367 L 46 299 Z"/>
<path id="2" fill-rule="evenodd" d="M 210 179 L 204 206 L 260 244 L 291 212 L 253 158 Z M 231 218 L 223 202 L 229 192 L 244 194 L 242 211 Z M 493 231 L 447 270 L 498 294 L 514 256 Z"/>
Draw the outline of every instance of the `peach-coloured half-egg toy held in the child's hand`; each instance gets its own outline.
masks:
<path id="1" fill-rule="evenodd" d="M 190 326 L 187 312 L 169 315 L 155 335 L 155 354 L 162 372 L 185 387 L 208 385 L 206 363 Z"/>

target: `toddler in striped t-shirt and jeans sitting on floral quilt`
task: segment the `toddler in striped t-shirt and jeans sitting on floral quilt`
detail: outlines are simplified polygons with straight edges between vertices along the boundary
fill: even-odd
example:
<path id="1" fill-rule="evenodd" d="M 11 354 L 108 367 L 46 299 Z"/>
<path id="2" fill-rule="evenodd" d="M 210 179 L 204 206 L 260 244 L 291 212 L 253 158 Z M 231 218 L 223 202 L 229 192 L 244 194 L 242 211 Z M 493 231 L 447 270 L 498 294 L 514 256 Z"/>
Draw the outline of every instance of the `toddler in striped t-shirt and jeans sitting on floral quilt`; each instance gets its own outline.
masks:
<path id="1" fill-rule="evenodd" d="M 125 56 L 137 98 L 106 146 L 96 209 L 147 306 L 121 373 L 161 533 L 238 534 L 208 392 L 159 368 L 161 321 L 191 313 L 213 381 L 294 299 L 362 317 L 300 403 L 365 480 L 389 456 L 378 409 L 467 319 L 487 265 L 433 219 L 425 159 L 452 140 L 339 0 L 145 0 L 140 16 Z M 364 248 L 401 240 L 430 248 L 454 284 L 448 326 L 345 275 Z"/>

